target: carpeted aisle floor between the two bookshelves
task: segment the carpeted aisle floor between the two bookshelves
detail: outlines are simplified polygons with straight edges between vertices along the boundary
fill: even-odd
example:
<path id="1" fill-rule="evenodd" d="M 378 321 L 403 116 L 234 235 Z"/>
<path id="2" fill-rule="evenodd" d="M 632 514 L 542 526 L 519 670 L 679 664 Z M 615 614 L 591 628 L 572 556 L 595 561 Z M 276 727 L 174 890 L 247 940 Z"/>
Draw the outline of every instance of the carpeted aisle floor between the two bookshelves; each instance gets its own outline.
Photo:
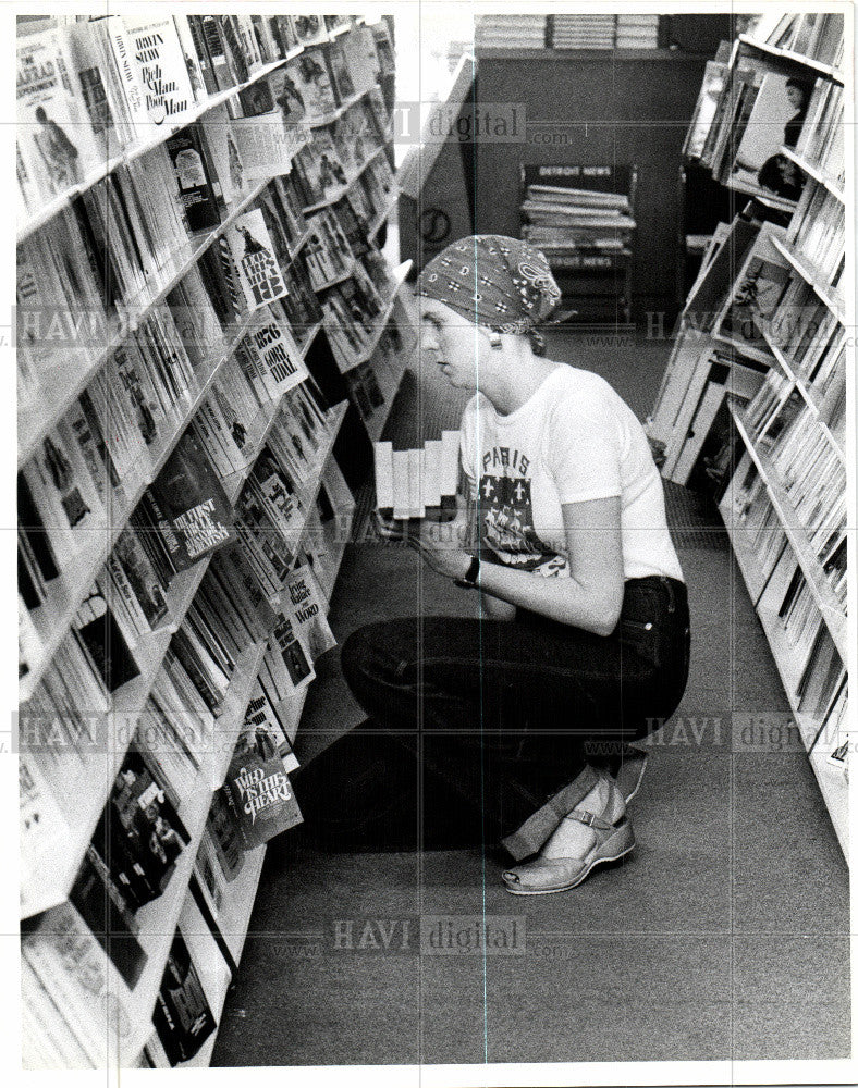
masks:
<path id="1" fill-rule="evenodd" d="M 560 332 L 549 354 L 599 369 L 642 417 L 666 346 L 588 346 Z M 455 425 L 450 401 L 429 417 L 431 381 L 412 384 L 426 392 L 425 425 Z M 849 1054 L 848 870 L 784 728 L 788 706 L 716 514 L 667 492 L 694 650 L 685 698 L 650 739 L 635 853 L 571 893 L 514 899 L 494 854 L 324 855 L 282 836 L 214 1065 Z M 342 640 L 394 613 L 474 606 L 413 553 L 363 543 L 348 549 L 331 621 Z M 359 717 L 332 651 L 308 698 L 302 761 Z M 765 745 L 752 733 L 761 721 Z M 517 951 L 438 954 L 437 916 L 458 930 L 514 917 Z"/>

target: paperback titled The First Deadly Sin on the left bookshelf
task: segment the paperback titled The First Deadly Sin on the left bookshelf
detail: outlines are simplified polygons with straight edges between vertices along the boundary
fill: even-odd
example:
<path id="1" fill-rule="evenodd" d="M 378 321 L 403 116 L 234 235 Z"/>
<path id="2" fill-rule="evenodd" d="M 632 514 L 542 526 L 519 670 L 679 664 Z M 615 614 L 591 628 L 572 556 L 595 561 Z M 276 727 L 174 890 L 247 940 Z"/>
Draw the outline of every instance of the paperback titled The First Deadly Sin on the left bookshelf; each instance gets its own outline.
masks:
<path id="1" fill-rule="evenodd" d="M 150 495 L 170 558 L 185 570 L 203 556 L 236 540 L 232 509 L 220 480 L 199 443 L 182 435 Z"/>

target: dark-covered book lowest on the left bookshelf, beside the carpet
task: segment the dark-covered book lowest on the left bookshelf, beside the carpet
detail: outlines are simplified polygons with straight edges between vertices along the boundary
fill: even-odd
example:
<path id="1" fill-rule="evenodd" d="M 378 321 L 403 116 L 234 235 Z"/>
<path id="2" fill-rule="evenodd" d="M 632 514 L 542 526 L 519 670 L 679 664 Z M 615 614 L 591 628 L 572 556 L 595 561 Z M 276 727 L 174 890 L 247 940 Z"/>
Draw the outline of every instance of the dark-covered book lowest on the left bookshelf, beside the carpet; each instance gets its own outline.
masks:
<path id="1" fill-rule="evenodd" d="M 197 1054 L 218 1026 L 179 928 L 167 957 L 152 1024 L 171 1066 Z"/>

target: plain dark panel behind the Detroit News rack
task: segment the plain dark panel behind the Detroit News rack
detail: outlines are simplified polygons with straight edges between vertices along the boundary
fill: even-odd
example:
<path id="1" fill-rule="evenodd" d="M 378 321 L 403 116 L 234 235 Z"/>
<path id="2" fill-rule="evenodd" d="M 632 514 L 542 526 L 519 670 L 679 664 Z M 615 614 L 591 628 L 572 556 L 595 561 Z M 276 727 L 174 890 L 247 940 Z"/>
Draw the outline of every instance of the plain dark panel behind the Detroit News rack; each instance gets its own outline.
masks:
<path id="1" fill-rule="evenodd" d="M 518 235 L 520 162 L 635 162 L 635 310 L 671 310 L 681 290 L 681 151 L 704 64 L 702 55 L 661 51 L 628 59 L 487 51 L 477 100 L 524 103 L 527 140 L 478 141 L 476 231 Z"/>

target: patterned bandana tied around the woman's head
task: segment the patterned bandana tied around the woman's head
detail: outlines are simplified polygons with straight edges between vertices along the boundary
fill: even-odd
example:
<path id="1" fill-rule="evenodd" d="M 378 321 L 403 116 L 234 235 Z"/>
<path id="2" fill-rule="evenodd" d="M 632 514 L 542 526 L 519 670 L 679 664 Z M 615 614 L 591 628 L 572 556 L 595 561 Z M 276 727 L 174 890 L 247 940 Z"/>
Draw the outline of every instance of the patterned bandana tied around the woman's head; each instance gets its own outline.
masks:
<path id="1" fill-rule="evenodd" d="M 500 234 L 478 234 L 448 246 L 420 273 L 417 294 L 499 333 L 531 332 L 560 301 L 542 254 Z"/>

